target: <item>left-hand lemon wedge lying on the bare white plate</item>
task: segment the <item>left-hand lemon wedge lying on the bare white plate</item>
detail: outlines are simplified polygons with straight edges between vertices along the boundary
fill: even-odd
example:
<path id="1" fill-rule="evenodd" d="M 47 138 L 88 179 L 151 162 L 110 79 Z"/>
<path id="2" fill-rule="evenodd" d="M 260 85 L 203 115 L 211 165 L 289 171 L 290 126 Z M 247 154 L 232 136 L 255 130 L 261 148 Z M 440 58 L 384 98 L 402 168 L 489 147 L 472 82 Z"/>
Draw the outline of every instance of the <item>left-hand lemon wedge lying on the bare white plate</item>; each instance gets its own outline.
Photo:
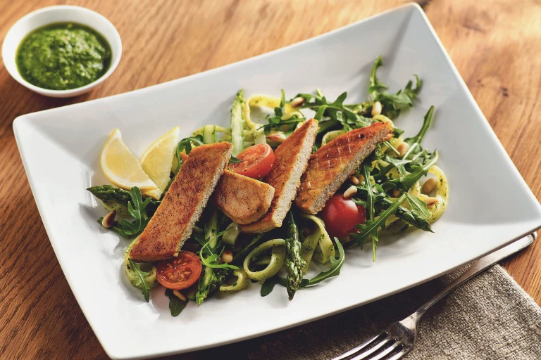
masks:
<path id="1" fill-rule="evenodd" d="M 139 160 L 122 141 L 120 130 L 115 129 L 101 150 L 101 170 L 111 183 L 124 190 L 137 186 L 144 191 L 151 191 L 158 186 L 143 171 Z"/>

